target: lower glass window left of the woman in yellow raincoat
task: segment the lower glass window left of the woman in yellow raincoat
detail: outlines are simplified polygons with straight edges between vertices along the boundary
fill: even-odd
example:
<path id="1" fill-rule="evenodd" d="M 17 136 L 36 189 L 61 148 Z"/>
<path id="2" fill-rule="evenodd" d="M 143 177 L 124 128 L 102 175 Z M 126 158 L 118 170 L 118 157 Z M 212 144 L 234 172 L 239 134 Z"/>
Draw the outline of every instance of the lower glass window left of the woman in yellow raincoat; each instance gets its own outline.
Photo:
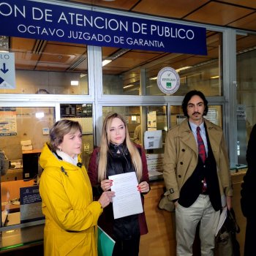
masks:
<path id="1" fill-rule="evenodd" d="M 54 108 L 0 108 L 1 227 L 43 219 L 38 159 Z"/>

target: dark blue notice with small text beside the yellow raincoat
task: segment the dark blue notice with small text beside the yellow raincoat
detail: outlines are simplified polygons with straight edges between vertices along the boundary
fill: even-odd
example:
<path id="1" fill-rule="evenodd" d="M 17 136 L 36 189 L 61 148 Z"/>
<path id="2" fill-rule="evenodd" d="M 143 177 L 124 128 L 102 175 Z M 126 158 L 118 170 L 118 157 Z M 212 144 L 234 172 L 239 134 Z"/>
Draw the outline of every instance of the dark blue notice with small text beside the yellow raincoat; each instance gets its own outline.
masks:
<path id="1" fill-rule="evenodd" d="M 39 186 L 20 187 L 20 223 L 44 218 Z"/>

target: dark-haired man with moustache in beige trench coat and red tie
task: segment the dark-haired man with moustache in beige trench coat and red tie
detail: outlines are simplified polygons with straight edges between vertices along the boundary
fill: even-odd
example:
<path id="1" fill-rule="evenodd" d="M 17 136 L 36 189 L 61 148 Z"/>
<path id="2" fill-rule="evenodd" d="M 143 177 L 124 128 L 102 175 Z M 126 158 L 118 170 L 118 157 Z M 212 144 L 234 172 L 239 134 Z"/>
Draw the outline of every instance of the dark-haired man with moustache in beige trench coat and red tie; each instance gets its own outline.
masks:
<path id="1" fill-rule="evenodd" d="M 163 172 L 176 206 L 177 256 L 192 255 L 199 223 L 201 255 L 211 256 L 220 210 L 231 208 L 227 148 L 222 129 L 203 118 L 208 101 L 201 91 L 189 91 L 182 109 L 187 118 L 167 134 Z"/>

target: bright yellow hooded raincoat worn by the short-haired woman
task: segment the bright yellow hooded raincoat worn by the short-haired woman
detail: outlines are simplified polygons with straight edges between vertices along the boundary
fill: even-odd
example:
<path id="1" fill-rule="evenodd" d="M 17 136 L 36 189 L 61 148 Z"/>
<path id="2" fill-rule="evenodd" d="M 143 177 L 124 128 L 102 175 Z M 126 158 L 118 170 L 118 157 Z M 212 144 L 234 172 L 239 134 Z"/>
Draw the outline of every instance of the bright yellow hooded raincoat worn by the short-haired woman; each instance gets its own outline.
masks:
<path id="1" fill-rule="evenodd" d="M 97 256 L 97 221 L 102 214 L 84 166 L 58 159 L 45 144 L 39 159 L 45 215 L 45 256 Z"/>

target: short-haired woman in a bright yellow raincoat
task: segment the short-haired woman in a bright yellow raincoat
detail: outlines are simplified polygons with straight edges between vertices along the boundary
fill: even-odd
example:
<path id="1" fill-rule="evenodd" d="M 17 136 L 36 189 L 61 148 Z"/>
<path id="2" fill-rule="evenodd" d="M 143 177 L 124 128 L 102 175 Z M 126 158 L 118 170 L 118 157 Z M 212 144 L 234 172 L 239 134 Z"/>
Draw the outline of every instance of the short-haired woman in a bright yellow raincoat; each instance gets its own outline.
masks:
<path id="1" fill-rule="evenodd" d="M 113 192 L 93 201 L 91 183 L 80 160 L 82 129 L 77 121 L 61 120 L 50 129 L 39 158 L 39 181 L 45 215 L 44 254 L 97 256 L 97 221 Z"/>

